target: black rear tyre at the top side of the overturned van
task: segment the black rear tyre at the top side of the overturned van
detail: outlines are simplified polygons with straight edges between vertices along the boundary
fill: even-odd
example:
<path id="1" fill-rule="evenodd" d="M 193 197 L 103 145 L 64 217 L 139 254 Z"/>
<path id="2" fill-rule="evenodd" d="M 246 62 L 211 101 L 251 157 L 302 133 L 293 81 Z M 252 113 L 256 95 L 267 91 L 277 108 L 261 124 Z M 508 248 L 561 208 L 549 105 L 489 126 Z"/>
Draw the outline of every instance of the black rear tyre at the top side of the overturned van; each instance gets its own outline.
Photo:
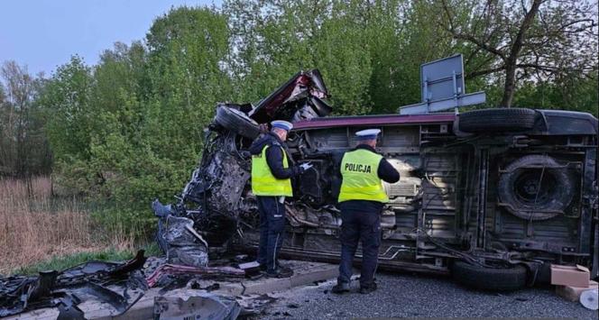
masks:
<path id="1" fill-rule="evenodd" d="M 536 112 L 524 108 L 482 109 L 459 114 L 459 130 L 465 133 L 521 132 L 534 127 Z"/>

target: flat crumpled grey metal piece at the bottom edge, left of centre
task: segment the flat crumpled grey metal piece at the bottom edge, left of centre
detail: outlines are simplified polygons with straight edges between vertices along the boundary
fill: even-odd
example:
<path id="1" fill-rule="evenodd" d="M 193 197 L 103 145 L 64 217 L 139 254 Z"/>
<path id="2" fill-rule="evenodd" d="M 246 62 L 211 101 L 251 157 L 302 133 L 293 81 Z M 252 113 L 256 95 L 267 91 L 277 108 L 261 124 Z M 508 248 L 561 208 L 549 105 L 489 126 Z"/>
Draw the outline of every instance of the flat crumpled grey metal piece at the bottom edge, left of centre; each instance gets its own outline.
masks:
<path id="1" fill-rule="evenodd" d="M 198 293 L 187 299 L 154 297 L 154 319 L 225 319 L 234 320 L 242 307 L 232 297 Z"/>

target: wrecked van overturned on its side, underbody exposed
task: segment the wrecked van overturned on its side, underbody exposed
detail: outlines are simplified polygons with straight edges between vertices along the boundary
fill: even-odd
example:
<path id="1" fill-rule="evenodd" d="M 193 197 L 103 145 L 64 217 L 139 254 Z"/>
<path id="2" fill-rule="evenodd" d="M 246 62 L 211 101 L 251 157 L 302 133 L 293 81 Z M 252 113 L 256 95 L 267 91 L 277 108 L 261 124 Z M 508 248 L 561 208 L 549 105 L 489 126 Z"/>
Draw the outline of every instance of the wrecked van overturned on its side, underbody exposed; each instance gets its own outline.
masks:
<path id="1" fill-rule="evenodd" d="M 255 252 L 259 214 L 247 148 L 274 119 L 292 121 L 292 160 L 314 164 L 293 181 L 281 255 L 336 262 L 341 218 L 336 164 L 355 132 L 381 129 L 377 151 L 401 173 L 384 184 L 379 268 L 453 274 L 475 288 L 548 281 L 550 263 L 597 277 L 597 119 L 526 108 L 461 114 L 330 117 L 318 70 L 300 72 L 257 105 L 218 105 L 198 168 L 179 201 L 210 254 Z M 164 228 L 158 240 L 168 250 Z M 162 231 L 162 232 L 161 232 Z M 359 263 L 360 250 L 356 254 Z"/>

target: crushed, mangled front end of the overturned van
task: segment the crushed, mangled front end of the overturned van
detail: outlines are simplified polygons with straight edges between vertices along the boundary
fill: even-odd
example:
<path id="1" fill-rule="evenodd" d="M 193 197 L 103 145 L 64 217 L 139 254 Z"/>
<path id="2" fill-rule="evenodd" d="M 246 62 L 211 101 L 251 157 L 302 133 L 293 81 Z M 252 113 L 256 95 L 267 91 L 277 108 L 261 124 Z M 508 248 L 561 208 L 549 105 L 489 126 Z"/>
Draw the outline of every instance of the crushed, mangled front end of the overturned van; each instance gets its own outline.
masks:
<path id="1" fill-rule="evenodd" d="M 227 108 L 233 114 L 224 123 L 246 118 L 256 126 L 255 131 L 265 132 L 275 119 L 296 122 L 330 114 L 328 97 L 320 72 L 312 69 L 300 71 L 255 107 L 219 104 L 218 110 Z M 240 140 L 244 134 L 235 134 L 217 121 L 218 116 L 208 126 L 202 160 L 177 197 L 179 201 L 152 203 L 159 218 L 156 240 L 169 263 L 205 267 L 208 253 L 219 255 L 235 245 L 240 224 L 256 224 L 257 203 L 249 191 L 250 155 L 243 150 L 247 141 Z"/>

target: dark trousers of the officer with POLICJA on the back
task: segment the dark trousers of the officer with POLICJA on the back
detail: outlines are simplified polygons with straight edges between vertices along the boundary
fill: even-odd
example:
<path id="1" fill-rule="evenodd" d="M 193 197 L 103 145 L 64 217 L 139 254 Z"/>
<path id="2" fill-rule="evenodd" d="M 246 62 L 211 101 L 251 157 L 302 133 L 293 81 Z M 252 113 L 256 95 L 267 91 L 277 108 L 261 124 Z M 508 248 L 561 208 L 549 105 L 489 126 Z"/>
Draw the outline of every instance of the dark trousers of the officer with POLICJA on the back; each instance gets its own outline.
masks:
<path id="1" fill-rule="evenodd" d="M 358 242 L 362 242 L 360 286 L 369 287 L 374 281 L 381 245 L 381 210 L 356 212 L 342 208 L 341 219 L 341 263 L 337 281 L 350 282 L 355 250 Z"/>

